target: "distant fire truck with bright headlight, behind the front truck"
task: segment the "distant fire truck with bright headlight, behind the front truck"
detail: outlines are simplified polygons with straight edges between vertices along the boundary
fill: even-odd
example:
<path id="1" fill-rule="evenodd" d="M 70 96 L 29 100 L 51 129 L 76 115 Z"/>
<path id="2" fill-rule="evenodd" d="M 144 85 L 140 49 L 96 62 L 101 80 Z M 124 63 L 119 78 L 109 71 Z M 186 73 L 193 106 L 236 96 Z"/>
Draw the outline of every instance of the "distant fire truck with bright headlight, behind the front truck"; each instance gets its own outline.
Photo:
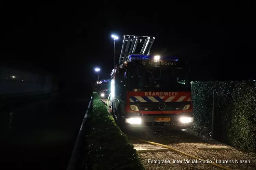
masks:
<path id="1" fill-rule="evenodd" d="M 106 99 L 110 95 L 110 79 L 100 80 L 97 83 L 97 90 L 100 98 Z"/>

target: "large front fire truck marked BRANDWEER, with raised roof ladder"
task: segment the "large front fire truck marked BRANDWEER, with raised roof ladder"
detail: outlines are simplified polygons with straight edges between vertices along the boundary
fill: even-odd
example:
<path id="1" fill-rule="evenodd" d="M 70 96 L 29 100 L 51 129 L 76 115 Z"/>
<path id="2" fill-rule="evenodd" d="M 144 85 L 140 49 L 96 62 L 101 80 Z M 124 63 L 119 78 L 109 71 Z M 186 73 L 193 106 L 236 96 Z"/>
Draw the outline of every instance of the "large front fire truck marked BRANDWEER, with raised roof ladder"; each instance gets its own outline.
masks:
<path id="1" fill-rule="evenodd" d="M 124 36 L 111 72 L 112 114 L 124 129 L 186 129 L 194 121 L 188 65 L 177 57 L 151 56 L 154 40 Z"/>

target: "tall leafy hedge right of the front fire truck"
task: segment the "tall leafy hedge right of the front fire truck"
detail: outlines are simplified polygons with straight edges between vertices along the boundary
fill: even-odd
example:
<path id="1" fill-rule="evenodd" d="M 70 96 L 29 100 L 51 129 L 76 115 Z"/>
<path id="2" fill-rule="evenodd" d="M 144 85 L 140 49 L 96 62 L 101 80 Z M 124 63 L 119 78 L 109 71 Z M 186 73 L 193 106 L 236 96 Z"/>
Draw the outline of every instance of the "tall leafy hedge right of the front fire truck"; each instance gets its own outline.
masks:
<path id="1" fill-rule="evenodd" d="M 194 129 L 238 149 L 256 151 L 256 84 L 249 81 L 191 82 Z"/>

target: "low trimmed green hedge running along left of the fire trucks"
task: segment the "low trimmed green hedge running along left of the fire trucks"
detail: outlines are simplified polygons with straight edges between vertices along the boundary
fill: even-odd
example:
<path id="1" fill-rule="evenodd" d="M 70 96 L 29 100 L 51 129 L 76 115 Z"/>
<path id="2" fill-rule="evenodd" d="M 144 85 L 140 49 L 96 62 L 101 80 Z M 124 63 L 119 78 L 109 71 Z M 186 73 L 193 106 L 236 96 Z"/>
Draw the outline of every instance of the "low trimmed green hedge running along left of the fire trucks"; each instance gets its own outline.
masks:
<path id="1" fill-rule="evenodd" d="M 136 150 L 116 125 L 106 106 L 94 92 L 93 111 L 87 122 L 84 169 L 144 170 Z"/>

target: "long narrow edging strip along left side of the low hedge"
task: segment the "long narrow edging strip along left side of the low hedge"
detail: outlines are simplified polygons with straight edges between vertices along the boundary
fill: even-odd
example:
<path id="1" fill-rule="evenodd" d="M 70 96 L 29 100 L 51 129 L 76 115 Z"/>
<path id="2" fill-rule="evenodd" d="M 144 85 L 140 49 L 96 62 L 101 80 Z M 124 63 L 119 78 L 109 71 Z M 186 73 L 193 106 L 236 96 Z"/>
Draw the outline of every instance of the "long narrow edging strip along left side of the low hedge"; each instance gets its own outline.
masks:
<path id="1" fill-rule="evenodd" d="M 75 170 L 76 167 L 77 167 L 77 159 L 79 159 L 79 152 L 80 152 L 79 149 L 81 147 L 81 143 L 82 143 L 81 140 L 83 138 L 83 134 L 84 134 L 84 131 L 85 131 L 84 126 L 85 126 L 85 123 L 86 123 L 87 119 L 90 117 L 89 114 L 90 114 L 90 110 L 91 110 L 92 106 L 93 106 L 93 97 L 91 97 L 88 108 L 87 108 L 87 111 L 84 115 L 84 120 L 82 122 L 80 131 L 77 135 L 75 145 L 74 145 L 71 157 L 69 159 L 69 164 L 68 164 L 67 170 Z"/>

